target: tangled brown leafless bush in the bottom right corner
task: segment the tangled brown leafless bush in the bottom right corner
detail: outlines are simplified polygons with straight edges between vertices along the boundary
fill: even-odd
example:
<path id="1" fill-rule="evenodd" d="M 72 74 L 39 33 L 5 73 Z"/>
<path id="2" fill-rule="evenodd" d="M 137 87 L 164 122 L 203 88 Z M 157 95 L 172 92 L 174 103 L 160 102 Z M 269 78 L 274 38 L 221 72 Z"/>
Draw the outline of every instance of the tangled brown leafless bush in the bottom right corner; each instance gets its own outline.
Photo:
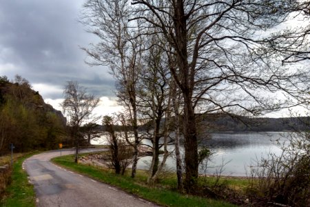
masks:
<path id="1" fill-rule="evenodd" d="M 309 206 L 310 132 L 296 132 L 287 139 L 278 143 L 281 155 L 269 153 L 252 168 L 254 179 L 247 194 L 258 206 Z"/>

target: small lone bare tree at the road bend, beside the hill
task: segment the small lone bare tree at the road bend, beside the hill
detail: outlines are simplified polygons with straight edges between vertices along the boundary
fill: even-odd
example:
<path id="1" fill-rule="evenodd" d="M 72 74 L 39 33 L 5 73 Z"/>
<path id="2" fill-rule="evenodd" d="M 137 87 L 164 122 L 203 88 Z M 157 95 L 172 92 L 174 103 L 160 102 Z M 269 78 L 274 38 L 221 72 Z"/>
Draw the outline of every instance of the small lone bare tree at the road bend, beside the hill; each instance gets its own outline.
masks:
<path id="1" fill-rule="evenodd" d="M 63 90 L 65 99 L 61 103 L 63 112 L 69 116 L 68 125 L 72 139 L 75 142 L 75 162 L 79 158 L 79 141 L 83 139 L 81 134 L 81 126 L 83 121 L 86 121 L 92 115 L 92 111 L 99 103 L 99 98 L 94 95 L 87 95 L 86 89 L 79 86 L 79 83 L 68 81 L 68 84 Z"/>

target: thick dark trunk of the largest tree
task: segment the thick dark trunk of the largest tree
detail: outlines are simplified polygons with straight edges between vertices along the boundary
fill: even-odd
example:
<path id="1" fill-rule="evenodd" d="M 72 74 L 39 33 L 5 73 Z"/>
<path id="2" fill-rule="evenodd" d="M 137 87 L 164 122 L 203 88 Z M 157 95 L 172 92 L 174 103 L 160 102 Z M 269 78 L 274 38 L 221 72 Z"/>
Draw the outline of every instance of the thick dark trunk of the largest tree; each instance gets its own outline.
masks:
<path id="1" fill-rule="evenodd" d="M 194 71 L 188 63 L 187 52 L 187 17 L 185 17 L 183 0 L 176 1 L 174 14 L 174 28 L 176 35 L 176 60 L 180 69 L 180 89 L 184 99 L 184 139 L 185 139 L 185 182 L 187 193 L 196 188 L 198 178 L 198 144 L 196 137 L 196 123 L 192 104 L 194 90 Z M 178 78 L 178 77 L 174 77 Z"/>

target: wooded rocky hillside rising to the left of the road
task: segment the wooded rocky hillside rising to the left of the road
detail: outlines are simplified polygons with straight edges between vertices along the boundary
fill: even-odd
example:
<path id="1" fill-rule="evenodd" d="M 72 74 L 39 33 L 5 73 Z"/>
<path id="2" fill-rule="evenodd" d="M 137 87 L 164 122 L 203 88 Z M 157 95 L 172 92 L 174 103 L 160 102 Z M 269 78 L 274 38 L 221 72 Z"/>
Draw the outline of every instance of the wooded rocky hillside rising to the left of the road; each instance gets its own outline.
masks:
<path id="1" fill-rule="evenodd" d="M 65 124 L 62 113 L 45 103 L 27 80 L 0 77 L 0 156 L 10 144 L 16 152 L 56 148 Z"/>

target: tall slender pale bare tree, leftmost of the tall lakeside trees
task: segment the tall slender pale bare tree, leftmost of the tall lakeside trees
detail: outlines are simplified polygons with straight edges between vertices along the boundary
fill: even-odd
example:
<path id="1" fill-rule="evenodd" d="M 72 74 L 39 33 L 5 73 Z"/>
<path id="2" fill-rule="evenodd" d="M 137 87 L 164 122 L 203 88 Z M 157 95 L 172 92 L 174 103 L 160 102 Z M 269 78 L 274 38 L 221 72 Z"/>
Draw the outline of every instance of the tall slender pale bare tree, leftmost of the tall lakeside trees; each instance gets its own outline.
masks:
<path id="1" fill-rule="evenodd" d="M 92 58 L 92 66 L 108 65 L 117 80 L 117 96 L 121 105 L 127 110 L 132 124 L 134 142 L 134 159 L 132 177 L 136 175 L 138 163 L 138 146 L 141 137 L 138 135 L 138 74 L 141 72 L 142 40 L 136 37 L 138 30 L 133 30 L 128 21 L 130 5 L 125 0 L 88 0 L 84 4 L 81 22 L 88 31 L 100 38 L 100 42 L 92 48 L 83 48 Z"/>

